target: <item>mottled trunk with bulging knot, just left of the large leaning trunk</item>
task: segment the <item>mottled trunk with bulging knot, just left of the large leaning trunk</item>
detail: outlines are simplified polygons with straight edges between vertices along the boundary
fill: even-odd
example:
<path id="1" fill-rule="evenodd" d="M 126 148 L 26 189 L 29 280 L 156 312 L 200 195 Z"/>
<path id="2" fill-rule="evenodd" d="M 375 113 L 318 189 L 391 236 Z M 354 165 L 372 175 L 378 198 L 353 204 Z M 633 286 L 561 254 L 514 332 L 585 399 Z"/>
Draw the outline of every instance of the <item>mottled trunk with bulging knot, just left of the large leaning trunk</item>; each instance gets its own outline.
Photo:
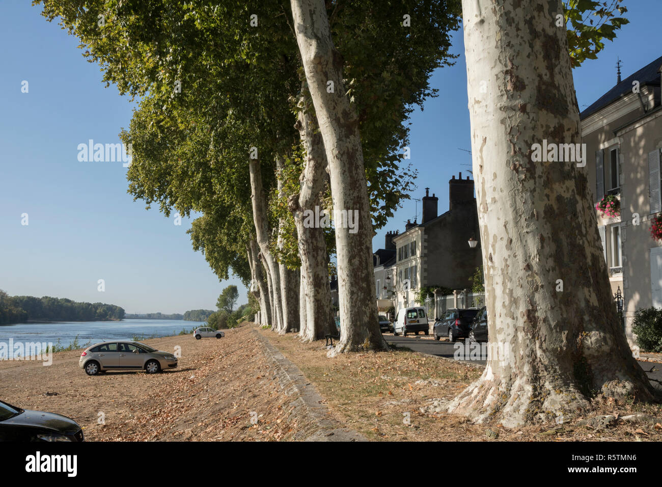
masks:
<path id="1" fill-rule="evenodd" d="M 305 91 L 305 83 L 302 91 Z M 322 210 L 320 193 L 328 180 L 324 140 L 312 115 L 312 107 L 306 106 L 305 97 L 299 103 L 297 129 L 306 150 L 306 162 L 301 174 L 299 195 L 290 197 L 288 205 L 294 216 L 299 236 L 301 276 L 305 277 L 305 300 L 307 323 L 301 322 L 299 336 L 305 342 L 323 339 L 334 334 L 335 325 L 331 309 L 331 289 L 328 280 L 328 265 L 324 229 L 319 225 L 307 225 L 306 212 L 314 215 L 316 208 Z"/>

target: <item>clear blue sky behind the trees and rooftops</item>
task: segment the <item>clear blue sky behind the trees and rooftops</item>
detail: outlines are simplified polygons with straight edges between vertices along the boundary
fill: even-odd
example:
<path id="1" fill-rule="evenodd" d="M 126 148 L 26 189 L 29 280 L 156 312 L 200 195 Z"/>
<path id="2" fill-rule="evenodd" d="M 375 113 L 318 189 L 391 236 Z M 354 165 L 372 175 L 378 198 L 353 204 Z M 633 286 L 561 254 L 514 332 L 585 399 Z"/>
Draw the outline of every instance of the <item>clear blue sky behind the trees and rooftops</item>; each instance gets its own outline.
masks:
<path id="1" fill-rule="evenodd" d="M 616 83 L 616 56 L 623 78 L 659 57 L 659 0 L 626 0 L 630 24 L 607 44 L 598 60 L 575 70 L 580 109 Z M 448 209 L 448 180 L 471 170 L 466 71 L 461 32 L 452 68 L 439 70 L 432 85 L 440 96 L 412 117 L 411 162 L 418 189 L 440 198 Z M 48 23 L 29 1 L 0 3 L 0 289 L 11 295 L 57 296 L 120 305 L 128 313 L 214 309 L 228 284 L 218 282 L 205 258 L 193 252 L 186 230 L 126 193 L 121 162 L 79 162 L 77 146 L 117 143 L 128 127 L 132 103 L 111 85 L 105 88 L 95 64 L 86 62 L 56 23 Z M 28 93 L 21 92 L 28 81 Z M 420 203 L 408 201 L 373 246 L 383 246 L 388 230 L 420 221 Z M 28 214 L 28 225 L 21 215 Z M 105 292 L 97 290 L 105 281 Z"/>

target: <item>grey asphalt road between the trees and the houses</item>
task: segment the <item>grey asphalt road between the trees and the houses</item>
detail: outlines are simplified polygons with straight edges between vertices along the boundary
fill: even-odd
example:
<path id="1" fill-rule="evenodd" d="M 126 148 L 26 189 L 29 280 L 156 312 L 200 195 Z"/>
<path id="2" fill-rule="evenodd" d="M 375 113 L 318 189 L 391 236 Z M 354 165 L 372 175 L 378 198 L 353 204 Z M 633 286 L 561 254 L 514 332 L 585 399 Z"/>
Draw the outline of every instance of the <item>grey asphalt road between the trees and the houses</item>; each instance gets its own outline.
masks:
<path id="1" fill-rule="evenodd" d="M 457 341 L 457 343 L 448 343 L 446 341 L 436 341 L 428 338 L 422 338 L 424 335 L 418 335 L 418 337 L 394 337 L 393 335 L 384 335 L 387 343 L 393 343 L 396 347 L 406 347 L 415 352 L 426 353 L 428 355 L 444 356 L 447 358 L 455 358 L 457 353 L 457 358 L 462 360 L 467 358 L 470 360 L 464 360 L 466 362 L 472 362 L 474 364 L 485 365 L 485 359 L 487 356 L 482 356 L 483 360 L 475 360 L 479 358 L 476 354 L 471 356 L 463 356 L 463 352 L 471 352 L 471 349 L 467 350 L 464 346 L 462 340 Z M 639 362 L 639 365 L 646 372 L 647 376 L 651 380 L 651 384 L 657 389 L 662 391 L 662 364 L 657 364 L 655 362 Z M 655 382 L 659 380 L 660 382 Z"/>

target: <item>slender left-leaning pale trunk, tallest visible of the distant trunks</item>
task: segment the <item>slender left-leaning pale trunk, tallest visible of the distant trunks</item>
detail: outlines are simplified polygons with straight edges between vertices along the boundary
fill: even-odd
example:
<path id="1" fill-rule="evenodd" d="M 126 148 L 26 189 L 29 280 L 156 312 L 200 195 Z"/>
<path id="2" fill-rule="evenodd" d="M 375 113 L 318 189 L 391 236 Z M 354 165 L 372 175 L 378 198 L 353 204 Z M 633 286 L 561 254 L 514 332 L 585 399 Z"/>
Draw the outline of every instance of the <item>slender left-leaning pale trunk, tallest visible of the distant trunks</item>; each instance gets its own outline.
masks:
<path id="1" fill-rule="evenodd" d="M 256 240 L 260 247 L 260 256 L 264 267 L 267 270 L 269 292 L 271 296 L 271 329 L 281 331 L 283 329 L 283 311 L 281 299 L 281 278 L 278 263 L 269 250 L 269 221 L 267 219 L 267 202 L 264 197 L 262 187 L 262 174 L 260 170 L 260 161 L 250 159 L 250 184 L 251 199 L 253 205 L 253 221 L 255 223 Z"/>

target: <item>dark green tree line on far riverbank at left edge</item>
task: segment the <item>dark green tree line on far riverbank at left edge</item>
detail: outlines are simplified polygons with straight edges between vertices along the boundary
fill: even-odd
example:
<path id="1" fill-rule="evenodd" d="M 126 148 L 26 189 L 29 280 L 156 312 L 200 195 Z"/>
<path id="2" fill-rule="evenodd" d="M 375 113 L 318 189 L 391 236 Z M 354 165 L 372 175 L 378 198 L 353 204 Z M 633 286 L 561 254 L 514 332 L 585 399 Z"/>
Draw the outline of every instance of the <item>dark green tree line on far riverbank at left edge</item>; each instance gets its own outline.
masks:
<path id="1" fill-rule="evenodd" d="M 0 325 L 28 319 L 101 321 L 123 319 L 124 308 L 107 303 L 85 303 L 66 298 L 9 296 L 0 290 Z"/>

